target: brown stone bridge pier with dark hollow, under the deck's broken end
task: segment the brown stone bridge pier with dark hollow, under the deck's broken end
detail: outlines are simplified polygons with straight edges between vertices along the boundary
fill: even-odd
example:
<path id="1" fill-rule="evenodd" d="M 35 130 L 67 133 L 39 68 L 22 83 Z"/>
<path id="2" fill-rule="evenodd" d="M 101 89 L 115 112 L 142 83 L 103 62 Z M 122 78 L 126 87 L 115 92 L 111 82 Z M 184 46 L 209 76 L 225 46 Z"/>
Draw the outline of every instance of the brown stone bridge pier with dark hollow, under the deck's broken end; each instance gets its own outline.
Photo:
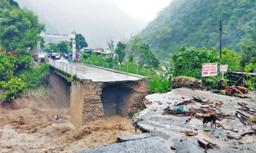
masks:
<path id="1" fill-rule="evenodd" d="M 149 78 L 97 82 L 82 79 L 70 87 L 70 120 L 75 127 L 112 115 L 132 117 L 145 107 Z"/>

